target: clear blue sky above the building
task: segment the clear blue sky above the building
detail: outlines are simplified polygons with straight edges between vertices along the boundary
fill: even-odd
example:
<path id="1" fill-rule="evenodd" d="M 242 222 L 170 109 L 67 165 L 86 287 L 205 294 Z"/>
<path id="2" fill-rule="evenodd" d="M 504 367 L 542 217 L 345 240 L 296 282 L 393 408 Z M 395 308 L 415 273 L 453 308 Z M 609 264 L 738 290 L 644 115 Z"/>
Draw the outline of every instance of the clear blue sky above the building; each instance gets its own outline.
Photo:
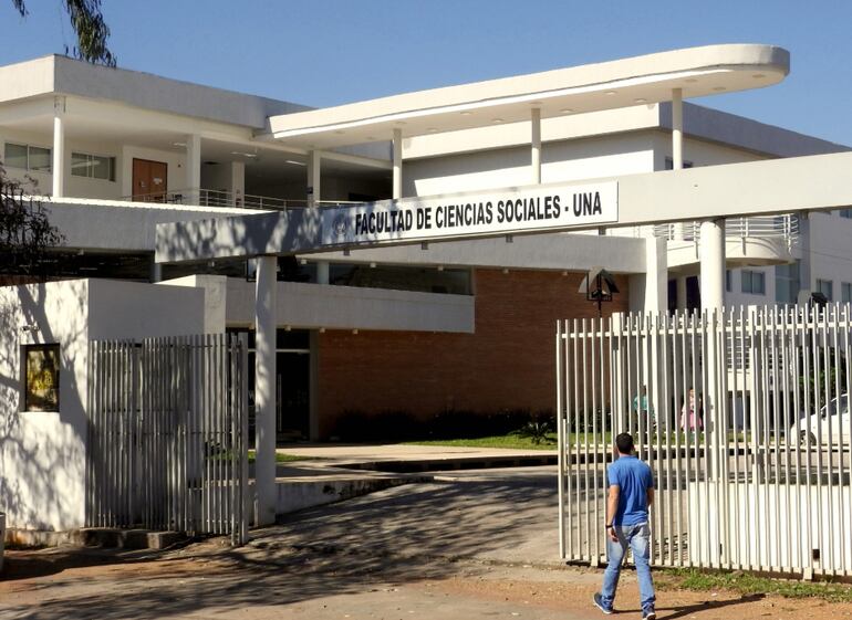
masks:
<path id="1" fill-rule="evenodd" d="M 74 44 L 60 0 L 0 0 L 6 64 Z M 325 106 L 711 43 L 792 54 L 705 105 L 852 145 L 845 0 L 103 0 L 122 67 Z"/>

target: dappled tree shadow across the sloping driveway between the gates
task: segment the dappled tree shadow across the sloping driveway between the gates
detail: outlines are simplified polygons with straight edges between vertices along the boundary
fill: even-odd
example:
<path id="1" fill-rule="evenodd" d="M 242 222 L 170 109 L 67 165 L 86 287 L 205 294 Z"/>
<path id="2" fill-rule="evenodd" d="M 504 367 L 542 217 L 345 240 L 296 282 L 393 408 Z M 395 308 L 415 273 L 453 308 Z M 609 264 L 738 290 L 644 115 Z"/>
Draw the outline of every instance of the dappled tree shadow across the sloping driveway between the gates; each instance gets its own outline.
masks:
<path id="1" fill-rule="evenodd" d="M 440 579 L 458 571 L 454 560 L 484 554 L 530 561 L 513 553 L 530 537 L 551 538 L 555 556 L 555 509 L 552 473 L 402 486 L 298 513 L 254 532 L 239 549 L 187 548 L 157 561 L 160 572 L 125 570 L 64 592 L 51 582 L 38 606 L 7 605 L 3 617 L 146 620 Z M 169 564 L 178 561 L 197 570 L 169 575 Z"/>

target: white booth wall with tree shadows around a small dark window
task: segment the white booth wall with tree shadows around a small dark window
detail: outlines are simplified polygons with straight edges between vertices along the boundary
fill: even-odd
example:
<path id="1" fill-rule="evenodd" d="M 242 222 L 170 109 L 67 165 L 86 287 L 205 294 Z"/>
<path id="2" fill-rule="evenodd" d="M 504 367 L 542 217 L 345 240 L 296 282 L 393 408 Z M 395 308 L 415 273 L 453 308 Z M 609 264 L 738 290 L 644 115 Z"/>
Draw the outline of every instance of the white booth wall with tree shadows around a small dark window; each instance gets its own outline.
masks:
<path id="1" fill-rule="evenodd" d="M 24 325 L 38 327 L 23 332 Z M 0 506 L 9 527 L 67 529 L 84 518 L 89 283 L 0 288 Z M 59 343 L 60 412 L 23 411 L 21 346 Z"/>

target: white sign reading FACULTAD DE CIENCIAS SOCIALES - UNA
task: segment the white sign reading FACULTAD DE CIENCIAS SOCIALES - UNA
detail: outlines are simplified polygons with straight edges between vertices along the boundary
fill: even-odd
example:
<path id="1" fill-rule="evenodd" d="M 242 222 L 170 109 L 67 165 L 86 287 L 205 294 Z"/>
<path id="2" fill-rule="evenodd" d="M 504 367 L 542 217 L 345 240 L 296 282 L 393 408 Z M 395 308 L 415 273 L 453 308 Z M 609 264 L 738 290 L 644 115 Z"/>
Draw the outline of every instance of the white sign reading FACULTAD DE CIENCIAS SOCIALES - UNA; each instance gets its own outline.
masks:
<path id="1" fill-rule="evenodd" d="M 541 187 L 325 209 L 322 244 L 510 234 L 617 221 L 617 182 Z"/>

